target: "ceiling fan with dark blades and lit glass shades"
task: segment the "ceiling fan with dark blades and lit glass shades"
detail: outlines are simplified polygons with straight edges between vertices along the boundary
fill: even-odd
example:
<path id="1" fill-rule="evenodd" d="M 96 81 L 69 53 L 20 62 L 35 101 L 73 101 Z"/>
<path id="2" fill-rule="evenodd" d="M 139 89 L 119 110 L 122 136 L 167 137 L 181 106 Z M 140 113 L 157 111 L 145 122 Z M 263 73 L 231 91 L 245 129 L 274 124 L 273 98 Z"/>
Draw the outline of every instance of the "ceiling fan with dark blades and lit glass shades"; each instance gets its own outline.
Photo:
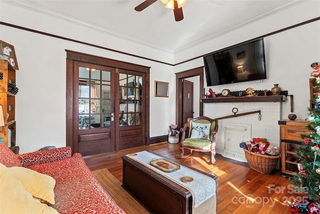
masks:
<path id="1" fill-rule="evenodd" d="M 140 5 L 134 8 L 135 11 L 142 11 L 155 3 L 157 0 L 145 0 Z M 182 6 L 185 5 L 187 0 L 161 0 L 163 4 L 165 4 L 165 8 L 169 8 L 173 10 L 174 19 L 176 22 L 183 20 Z"/>

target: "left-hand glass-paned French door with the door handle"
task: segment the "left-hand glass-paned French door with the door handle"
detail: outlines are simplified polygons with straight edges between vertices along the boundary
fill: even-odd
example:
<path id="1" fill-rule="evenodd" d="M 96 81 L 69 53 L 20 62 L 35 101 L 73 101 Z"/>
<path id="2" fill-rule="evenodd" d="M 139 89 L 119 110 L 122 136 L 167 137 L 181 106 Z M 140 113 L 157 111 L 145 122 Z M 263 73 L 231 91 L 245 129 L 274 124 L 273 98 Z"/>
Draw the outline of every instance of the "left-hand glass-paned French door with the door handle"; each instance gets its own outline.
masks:
<path id="1" fill-rule="evenodd" d="M 74 63 L 73 147 L 82 155 L 114 151 L 115 69 Z"/>

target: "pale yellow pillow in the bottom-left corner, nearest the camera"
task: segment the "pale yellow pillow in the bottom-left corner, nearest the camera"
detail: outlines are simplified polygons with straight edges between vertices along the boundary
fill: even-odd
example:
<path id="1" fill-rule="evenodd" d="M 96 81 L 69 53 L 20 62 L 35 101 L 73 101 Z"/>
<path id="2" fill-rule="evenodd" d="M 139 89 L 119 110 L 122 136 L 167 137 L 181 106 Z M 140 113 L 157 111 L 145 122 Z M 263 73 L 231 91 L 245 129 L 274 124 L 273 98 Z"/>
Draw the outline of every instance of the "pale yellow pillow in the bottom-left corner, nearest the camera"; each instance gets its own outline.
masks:
<path id="1" fill-rule="evenodd" d="M 7 167 L 0 163 L 0 213 L 48 213 L 58 212 L 34 199 L 20 180 Z"/>

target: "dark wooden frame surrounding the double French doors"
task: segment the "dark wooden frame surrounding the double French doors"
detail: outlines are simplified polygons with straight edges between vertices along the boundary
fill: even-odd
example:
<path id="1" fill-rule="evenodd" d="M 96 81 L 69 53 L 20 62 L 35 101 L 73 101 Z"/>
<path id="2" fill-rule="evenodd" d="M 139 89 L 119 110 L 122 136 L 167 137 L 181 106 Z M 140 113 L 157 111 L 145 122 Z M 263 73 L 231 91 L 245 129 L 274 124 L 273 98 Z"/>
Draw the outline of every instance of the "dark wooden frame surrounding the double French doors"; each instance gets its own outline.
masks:
<path id="1" fill-rule="evenodd" d="M 72 153 L 77 152 L 78 148 L 73 146 L 73 62 L 85 62 L 101 66 L 120 68 L 124 70 L 145 73 L 145 145 L 149 145 L 149 82 L 150 67 L 136 65 L 118 60 L 112 60 L 104 57 L 79 53 L 75 51 L 66 51 L 66 146 L 70 146 Z M 76 127 L 77 128 L 77 127 Z"/>

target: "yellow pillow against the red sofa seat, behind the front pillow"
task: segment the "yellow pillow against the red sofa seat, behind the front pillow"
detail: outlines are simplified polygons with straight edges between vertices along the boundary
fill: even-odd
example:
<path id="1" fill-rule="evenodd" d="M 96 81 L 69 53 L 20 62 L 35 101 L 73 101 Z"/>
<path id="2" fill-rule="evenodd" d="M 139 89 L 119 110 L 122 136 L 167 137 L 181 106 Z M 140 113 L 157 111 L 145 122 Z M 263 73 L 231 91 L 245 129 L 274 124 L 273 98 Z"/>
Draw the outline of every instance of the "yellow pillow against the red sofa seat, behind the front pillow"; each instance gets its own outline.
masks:
<path id="1" fill-rule="evenodd" d="M 8 170 L 20 180 L 23 188 L 40 202 L 55 203 L 55 180 L 51 176 L 19 166 L 9 167 Z"/>

